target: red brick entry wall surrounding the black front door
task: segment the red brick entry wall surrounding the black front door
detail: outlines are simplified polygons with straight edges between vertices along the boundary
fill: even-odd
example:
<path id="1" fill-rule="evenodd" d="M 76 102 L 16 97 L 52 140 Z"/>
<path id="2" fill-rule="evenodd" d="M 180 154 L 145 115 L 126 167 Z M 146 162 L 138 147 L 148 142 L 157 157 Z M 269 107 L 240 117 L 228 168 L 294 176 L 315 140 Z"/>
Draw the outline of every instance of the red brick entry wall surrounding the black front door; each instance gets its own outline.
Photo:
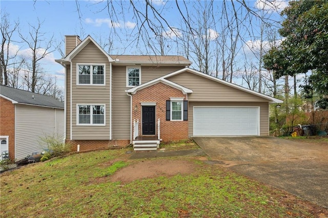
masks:
<path id="1" fill-rule="evenodd" d="M 160 119 L 160 138 L 163 139 L 163 142 L 188 139 L 188 121 L 166 120 L 166 101 L 170 100 L 170 97 L 183 97 L 186 100 L 187 96 L 180 90 L 161 82 L 139 90 L 132 95 L 132 119 L 139 119 L 139 135 L 142 135 L 141 102 L 156 102 L 156 135 L 157 120 Z"/>

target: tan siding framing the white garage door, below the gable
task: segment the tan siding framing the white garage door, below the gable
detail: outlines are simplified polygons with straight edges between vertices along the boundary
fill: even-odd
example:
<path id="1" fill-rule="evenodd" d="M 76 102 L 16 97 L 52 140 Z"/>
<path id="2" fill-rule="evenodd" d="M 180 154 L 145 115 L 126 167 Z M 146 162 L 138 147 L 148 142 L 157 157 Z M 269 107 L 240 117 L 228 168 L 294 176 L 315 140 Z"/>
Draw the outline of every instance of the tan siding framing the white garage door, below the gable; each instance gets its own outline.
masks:
<path id="1" fill-rule="evenodd" d="M 189 98 L 189 97 L 188 97 Z M 194 106 L 259 106 L 260 107 L 260 136 L 269 135 L 269 103 L 268 102 L 193 102 L 188 105 L 188 135 L 193 136 L 193 107 Z"/>

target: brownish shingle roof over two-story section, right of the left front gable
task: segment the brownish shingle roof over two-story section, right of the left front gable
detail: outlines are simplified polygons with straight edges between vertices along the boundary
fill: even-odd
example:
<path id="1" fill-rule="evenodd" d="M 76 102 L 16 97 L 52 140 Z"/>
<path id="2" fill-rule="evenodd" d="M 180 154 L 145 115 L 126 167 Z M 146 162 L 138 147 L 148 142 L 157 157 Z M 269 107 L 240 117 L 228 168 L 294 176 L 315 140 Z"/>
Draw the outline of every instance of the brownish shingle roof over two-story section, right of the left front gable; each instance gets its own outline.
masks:
<path id="1" fill-rule="evenodd" d="M 192 62 L 179 55 L 110 55 L 113 65 L 190 66 Z"/>

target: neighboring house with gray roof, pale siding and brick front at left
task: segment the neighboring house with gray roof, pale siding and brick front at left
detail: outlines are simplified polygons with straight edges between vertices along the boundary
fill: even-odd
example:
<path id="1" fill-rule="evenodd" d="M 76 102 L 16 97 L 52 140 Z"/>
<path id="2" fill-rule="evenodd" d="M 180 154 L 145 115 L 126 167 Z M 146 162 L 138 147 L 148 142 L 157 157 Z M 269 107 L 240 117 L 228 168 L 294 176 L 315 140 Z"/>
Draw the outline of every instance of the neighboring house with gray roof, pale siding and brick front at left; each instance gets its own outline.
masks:
<path id="1" fill-rule="evenodd" d="M 0 85 L 1 152 L 20 160 L 47 146 L 44 137 L 64 139 L 64 103 L 50 96 Z"/>

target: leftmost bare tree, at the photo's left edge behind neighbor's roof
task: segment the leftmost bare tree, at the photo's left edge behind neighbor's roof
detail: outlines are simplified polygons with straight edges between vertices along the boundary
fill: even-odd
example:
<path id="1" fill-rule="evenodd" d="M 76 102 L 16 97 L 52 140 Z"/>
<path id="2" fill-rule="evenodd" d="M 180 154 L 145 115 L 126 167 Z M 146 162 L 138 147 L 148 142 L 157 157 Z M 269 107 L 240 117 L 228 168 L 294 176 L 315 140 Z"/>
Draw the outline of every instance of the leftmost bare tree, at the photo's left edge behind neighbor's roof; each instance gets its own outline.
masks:
<path id="1" fill-rule="evenodd" d="M 8 69 L 10 66 L 17 64 L 16 57 L 18 51 L 13 51 L 14 54 L 10 54 L 10 47 L 12 42 L 12 35 L 18 30 L 19 23 L 15 22 L 13 25 L 10 24 L 8 19 L 8 14 L 2 11 L 1 16 L 1 34 L 2 34 L 2 43 L 0 51 L 0 83 L 8 85 Z M 18 63 L 19 64 L 19 63 Z"/>

